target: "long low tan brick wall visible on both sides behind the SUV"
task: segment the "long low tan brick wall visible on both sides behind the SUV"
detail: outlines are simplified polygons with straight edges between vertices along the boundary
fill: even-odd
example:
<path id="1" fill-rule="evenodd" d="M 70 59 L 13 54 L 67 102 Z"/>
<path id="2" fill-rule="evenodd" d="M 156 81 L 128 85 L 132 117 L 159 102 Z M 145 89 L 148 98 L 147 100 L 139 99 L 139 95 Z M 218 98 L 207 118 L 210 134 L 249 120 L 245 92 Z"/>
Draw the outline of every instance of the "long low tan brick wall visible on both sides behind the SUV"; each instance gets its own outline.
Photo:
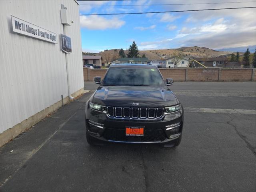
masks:
<path id="1" fill-rule="evenodd" d="M 237 68 L 160 68 L 163 78 L 173 78 L 174 81 L 256 81 L 255 69 Z M 84 81 L 105 76 L 107 69 L 84 68 Z"/>

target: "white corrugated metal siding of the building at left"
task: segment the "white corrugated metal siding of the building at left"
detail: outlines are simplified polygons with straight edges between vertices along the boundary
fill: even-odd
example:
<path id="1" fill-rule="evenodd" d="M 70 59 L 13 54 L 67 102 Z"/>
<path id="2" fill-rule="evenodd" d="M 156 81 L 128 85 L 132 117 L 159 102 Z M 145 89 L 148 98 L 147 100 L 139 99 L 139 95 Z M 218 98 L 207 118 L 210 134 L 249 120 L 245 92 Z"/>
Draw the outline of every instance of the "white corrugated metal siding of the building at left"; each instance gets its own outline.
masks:
<path id="1" fill-rule="evenodd" d="M 0 133 L 68 96 L 60 4 L 68 8 L 66 26 L 71 92 L 83 88 L 79 6 L 74 0 L 0 1 Z M 11 15 L 58 34 L 52 44 L 12 32 Z"/>

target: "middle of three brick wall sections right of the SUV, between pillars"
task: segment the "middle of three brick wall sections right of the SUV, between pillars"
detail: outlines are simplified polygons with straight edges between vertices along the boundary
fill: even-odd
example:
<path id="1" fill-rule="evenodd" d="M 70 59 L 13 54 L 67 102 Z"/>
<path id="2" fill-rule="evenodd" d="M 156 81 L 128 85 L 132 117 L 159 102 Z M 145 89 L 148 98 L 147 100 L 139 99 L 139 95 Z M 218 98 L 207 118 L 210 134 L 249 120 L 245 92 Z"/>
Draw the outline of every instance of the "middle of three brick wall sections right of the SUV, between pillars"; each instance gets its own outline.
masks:
<path id="1" fill-rule="evenodd" d="M 218 68 L 188 68 L 187 81 L 218 81 Z"/>

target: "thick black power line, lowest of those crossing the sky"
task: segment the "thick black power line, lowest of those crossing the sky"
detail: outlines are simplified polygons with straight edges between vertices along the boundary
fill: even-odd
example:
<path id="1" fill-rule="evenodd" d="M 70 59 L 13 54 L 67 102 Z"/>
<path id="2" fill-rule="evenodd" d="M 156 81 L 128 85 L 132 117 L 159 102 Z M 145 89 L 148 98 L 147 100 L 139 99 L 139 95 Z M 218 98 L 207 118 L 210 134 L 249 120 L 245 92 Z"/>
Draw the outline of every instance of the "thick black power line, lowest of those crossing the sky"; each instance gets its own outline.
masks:
<path id="1" fill-rule="evenodd" d="M 179 11 L 157 11 L 157 12 L 138 12 L 138 13 L 105 13 L 105 14 L 80 14 L 80 16 L 90 15 L 131 15 L 131 14 L 149 14 L 149 13 L 174 13 L 174 12 L 192 12 L 192 11 L 210 11 L 210 10 L 227 10 L 227 9 L 248 9 L 256 7 L 233 7 L 233 8 L 218 8 L 218 9 L 198 9 L 198 10 L 179 10 Z"/>

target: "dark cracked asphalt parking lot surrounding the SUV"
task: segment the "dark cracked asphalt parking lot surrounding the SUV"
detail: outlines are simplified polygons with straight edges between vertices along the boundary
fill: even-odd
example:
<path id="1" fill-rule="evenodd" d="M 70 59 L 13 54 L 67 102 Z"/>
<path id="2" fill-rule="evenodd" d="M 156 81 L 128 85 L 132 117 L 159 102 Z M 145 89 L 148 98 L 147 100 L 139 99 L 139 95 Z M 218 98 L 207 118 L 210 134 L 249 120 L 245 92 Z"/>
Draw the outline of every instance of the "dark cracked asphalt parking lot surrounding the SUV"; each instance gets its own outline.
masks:
<path id="1" fill-rule="evenodd" d="M 90 92 L 1 148 L 1 192 L 256 191 L 256 82 L 174 82 L 177 148 L 89 146 L 84 104 L 96 88 L 86 82 Z"/>

